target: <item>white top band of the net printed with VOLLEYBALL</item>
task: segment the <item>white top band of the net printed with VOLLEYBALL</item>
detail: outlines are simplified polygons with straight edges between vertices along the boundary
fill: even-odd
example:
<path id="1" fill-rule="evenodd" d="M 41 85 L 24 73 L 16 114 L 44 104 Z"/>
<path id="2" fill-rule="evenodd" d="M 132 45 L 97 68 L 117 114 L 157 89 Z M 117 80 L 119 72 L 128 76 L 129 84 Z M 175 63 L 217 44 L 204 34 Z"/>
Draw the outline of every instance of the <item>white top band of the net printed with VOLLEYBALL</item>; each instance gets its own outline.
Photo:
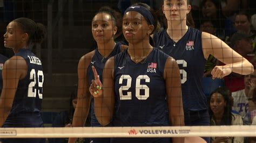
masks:
<path id="1" fill-rule="evenodd" d="M 0 138 L 256 137 L 256 126 L 1 128 Z"/>

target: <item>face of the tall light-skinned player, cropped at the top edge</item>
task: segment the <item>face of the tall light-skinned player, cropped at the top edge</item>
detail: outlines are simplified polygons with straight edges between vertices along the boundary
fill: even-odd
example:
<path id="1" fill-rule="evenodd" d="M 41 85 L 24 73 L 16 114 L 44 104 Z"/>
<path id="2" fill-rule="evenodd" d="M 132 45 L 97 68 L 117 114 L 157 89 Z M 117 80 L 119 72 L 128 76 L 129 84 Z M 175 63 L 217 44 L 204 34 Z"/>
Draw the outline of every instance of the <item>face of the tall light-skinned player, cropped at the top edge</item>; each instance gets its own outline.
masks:
<path id="1" fill-rule="evenodd" d="M 186 20 L 191 5 L 187 5 L 187 0 L 165 0 L 162 8 L 167 22 L 172 22 L 173 20 Z"/>

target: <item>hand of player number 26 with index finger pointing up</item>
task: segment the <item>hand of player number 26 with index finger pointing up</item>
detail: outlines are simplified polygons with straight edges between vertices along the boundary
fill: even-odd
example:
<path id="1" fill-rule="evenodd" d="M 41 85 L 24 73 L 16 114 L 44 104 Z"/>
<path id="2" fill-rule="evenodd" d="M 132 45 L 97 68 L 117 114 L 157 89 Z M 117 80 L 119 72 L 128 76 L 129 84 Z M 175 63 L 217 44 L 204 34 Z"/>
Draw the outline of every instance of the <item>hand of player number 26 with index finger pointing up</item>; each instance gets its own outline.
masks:
<path id="1" fill-rule="evenodd" d="M 93 71 L 95 80 L 92 80 L 89 91 L 90 91 L 91 95 L 96 98 L 96 97 L 102 96 L 103 85 L 102 85 L 102 82 L 99 80 L 98 73 L 94 66 L 92 66 L 92 71 Z"/>

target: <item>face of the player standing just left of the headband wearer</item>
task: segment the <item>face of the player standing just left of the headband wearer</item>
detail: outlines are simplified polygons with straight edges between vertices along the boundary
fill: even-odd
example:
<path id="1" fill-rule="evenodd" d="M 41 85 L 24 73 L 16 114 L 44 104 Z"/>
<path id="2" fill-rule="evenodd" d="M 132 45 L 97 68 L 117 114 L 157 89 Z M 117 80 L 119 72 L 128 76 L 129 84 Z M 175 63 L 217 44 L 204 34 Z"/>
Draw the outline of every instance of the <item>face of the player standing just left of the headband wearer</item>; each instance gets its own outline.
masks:
<path id="1" fill-rule="evenodd" d="M 107 13 L 98 13 L 92 19 L 92 35 L 97 43 L 113 40 L 117 27 L 114 26 L 111 16 Z"/>

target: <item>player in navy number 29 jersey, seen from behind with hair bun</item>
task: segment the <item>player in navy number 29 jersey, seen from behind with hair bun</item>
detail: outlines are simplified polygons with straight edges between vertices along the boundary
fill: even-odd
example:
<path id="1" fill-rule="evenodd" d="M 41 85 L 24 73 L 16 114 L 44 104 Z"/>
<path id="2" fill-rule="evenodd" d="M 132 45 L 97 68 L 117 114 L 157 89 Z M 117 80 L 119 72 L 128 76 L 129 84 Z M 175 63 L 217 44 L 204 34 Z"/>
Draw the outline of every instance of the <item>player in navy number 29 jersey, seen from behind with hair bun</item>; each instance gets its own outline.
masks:
<path id="1" fill-rule="evenodd" d="M 3 67 L 0 99 L 2 127 L 42 127 L 41 104 L 44 74 L 41 60 L 29 47 L 41 43 L 46 30 L 28 18 L 10 22 L 4 34 L 4 46 L 15 55 Z M 44 142 L 44 139 L 2 139 L 2 142 Z"/>

